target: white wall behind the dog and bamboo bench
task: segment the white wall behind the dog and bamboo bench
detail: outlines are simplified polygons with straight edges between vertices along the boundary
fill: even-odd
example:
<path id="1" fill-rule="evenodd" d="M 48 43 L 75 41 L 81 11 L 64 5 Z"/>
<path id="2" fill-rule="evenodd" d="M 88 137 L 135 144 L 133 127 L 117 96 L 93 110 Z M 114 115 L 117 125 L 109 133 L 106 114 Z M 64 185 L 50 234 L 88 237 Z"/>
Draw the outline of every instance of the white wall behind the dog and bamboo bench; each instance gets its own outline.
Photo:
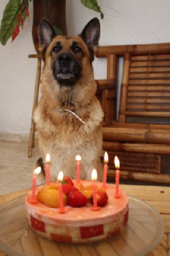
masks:
<path id="1" fill-rule="evenodd" d="M 0 20 L 8 0 L 0 1 Z M 169 0 L 98 0 L 104 12 L 100 45 L 170 42 Z M 29 21 L 13 43 L 0 45 L 0 134 L 29 134 L 36 60 L 31 38 L 32 3 Z M 67 1 L 68 35 L 80 33 L 100 14 L 88 10 L 80 0 Z M 105 78 L 105 61 L 95 60 L 95 77 Z"/>

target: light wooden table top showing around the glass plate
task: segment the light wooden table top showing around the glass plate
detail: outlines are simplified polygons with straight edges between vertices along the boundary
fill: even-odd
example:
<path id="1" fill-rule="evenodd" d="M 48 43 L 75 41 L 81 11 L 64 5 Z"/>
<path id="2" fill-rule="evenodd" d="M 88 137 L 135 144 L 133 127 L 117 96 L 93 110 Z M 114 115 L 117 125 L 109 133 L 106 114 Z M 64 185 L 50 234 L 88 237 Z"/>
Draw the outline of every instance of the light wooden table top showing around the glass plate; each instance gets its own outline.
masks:
<path id="1" fill-rule="evenodd" d="M 164 218 L 164 237 L 160 241 L 160 244 L 158 244 L 152 252 L 148 253 L 147 256 L 170 256 L 170 187 L 136 185 L 121 185 L 120 187 L 128 195 L 144 200 L 144 202 L 153 206 Z M 1 196 L 0 205 L 3 205 L 20 195 L 26 194 L 27 191 L 28 190 L 26 189 Z M 6 254 L 0 251 L 0 256 L 5 255 Z M 105 255 L 107 255 L 107 252 L 105 252 Z M 90 256 L 90 254 L 86 256 Z"/>

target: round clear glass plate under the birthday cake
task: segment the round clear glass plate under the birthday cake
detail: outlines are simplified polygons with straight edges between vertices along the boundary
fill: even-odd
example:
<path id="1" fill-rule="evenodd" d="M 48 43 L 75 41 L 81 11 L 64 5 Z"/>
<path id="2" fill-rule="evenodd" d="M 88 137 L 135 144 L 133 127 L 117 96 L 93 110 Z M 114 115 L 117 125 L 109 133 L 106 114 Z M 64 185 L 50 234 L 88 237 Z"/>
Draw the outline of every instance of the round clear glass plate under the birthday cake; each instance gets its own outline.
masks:
<path id="1" fill-rule="evenodd" d="M 162 216 L 142 200 L 129 196 L 128 225 L 119 236 L 95 244 L 55 243 L 28 227 L 24 197 L 0 208 L 0 248 L 10 256 L 142 256 L 151 252 L 164 234 Z"/>

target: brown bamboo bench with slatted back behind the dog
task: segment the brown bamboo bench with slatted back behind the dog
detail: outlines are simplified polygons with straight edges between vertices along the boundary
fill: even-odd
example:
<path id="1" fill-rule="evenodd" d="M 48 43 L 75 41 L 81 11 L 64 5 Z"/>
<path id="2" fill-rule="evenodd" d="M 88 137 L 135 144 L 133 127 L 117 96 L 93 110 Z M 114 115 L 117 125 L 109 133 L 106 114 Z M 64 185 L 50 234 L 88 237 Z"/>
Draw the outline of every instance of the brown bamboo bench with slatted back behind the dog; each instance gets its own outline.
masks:
<path id="1" fill-rule="evenodd" d="M 114 63 L 123 56 L 118 120 L 111 115 L 116 100 L 112 109 L 105 106 L 106 97 L 102 101 L 107 116 L 102 129 L 103 147 L 109 154 L 108 179 L 114 177 L 118 155 L 121 179 L 170 184 L 170 174 L 161 170 L 162 155 L 170 154 L 170 44 L 104 46 L 98 47 L 96 55 L 107 58 L 107 70 L 115 74 Z"/>

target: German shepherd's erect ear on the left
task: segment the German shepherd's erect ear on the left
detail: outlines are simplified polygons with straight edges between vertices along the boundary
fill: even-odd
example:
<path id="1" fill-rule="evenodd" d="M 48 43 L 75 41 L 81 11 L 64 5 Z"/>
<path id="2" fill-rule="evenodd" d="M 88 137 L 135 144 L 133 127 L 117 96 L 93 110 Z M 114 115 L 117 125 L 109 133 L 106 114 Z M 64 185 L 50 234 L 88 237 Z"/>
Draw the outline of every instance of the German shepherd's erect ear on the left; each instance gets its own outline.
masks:
<path id="1" fill-rule="evenodd" d="M 52 39 L 56 36 L 56 33 L 50 23 L 46 19 L 42 19 L 38 26 L 38 38 L 40 48 L 47 47 Z"/>

